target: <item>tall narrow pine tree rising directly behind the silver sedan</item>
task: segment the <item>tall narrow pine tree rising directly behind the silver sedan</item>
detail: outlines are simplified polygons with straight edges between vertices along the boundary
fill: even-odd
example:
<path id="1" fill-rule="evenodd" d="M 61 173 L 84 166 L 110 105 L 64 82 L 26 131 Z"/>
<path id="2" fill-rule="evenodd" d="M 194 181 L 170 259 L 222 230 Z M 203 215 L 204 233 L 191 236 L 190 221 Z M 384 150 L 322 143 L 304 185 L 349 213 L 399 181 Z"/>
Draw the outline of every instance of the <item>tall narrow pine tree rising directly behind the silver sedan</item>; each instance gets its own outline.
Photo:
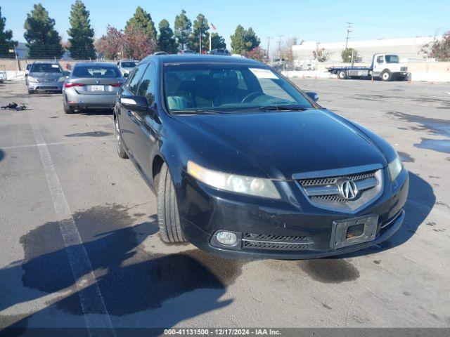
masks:
<path id="1" fill-rule="evenodd" d="M 70 11 L 69 51 L 72 58 L 96 58 L 94 51 L 94 29 L 91 28 L 89 11 L 81 0 L 75 1 Z"/>

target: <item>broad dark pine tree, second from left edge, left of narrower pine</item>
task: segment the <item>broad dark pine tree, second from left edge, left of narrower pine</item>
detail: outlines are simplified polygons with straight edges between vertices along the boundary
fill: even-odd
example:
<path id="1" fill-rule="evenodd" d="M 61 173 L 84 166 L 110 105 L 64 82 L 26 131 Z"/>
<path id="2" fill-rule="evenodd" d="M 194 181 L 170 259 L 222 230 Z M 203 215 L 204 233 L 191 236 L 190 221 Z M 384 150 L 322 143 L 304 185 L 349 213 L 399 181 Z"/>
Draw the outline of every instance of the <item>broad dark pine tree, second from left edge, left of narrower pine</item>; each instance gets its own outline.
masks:
<path id="1" fill-rule="evenodd" d="M 60 58 L 64 51 L 61 38 L 55 30 L 55 20 L 41 4 L 34 4 L 27 14 L 24 37 L 29 58 Z"/>

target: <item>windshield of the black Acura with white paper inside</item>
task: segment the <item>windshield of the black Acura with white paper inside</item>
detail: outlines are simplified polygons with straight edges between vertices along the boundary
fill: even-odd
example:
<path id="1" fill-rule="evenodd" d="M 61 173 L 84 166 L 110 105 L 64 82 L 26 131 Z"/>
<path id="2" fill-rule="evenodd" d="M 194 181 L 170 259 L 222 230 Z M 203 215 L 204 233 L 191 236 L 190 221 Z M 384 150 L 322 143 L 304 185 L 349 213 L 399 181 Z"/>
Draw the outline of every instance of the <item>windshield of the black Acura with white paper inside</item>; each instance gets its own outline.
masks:
<path id="1" fill-rule="evenodd" d="M 258 65 L 165 65 L 165 100 L 172 113 L 312 107 L 292 84 Z"/>

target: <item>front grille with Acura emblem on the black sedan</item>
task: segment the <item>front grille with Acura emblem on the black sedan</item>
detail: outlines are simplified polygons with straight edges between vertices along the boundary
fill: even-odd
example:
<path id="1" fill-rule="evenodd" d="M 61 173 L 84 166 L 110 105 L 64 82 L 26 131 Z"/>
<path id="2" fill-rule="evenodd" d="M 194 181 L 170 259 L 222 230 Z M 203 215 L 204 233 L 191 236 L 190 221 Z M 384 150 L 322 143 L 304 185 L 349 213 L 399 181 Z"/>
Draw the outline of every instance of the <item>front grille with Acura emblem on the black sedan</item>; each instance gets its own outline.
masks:
<path id="1" fill-rule="evenodd" d="M 376 169 L 374 169 L 376 167 Z M 306 194 L 307 199 L 324 209 L 336 209 L 338 211 L 354 211 L 359 207 L 368 204 L 378 197 L 383 189 L 383 171 L 380 166 L 369 166 L 366 171 L 355 172 L 354 168 L 349 168 L 348 174 L 339 176 L 323 176 L 317 177 L 312 172 L 309 178 L 300 178 L 297 182 L 300 188 Z M 340 188 L 345 180 L 350 180 L 356 185 L 358 190 L 356 197 L 353 199 L 345 199 L 341 194 Z"/>

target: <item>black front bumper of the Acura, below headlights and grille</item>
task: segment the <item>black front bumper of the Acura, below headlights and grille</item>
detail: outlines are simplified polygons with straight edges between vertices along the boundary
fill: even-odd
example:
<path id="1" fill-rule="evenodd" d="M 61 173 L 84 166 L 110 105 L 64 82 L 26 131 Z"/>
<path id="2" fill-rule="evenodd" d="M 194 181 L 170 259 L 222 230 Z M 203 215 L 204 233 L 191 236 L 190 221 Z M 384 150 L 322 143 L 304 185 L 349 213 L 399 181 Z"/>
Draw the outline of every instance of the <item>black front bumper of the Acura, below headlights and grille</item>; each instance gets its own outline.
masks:
<path id="1" fill-rule="evenodd" d="M 294 182 L 285 183 L 284 188 L 290 193 L 287 198 L 269 200 L 215 190 L 184 173 L 179 188 L 179 192 L 184 193 L 179 195 L 181 227 L 192 244 L 225 258 L 302 259 L 340 255 L 380 244 L 399 229 L 404 221 L 408 180 L 408 173 L 404 170 L 394 184 L 387 183 L 389 188 L 378 199 L 357 213 L 344 213 L 311 205 Z M 368 214 L 378 215 L 375 239 L 340 249 L 332 248 L 333 221 Z M 238 244 L 233 247 L 217 244 L 215 234 L 219 230 L 235 232 Z M 249 247 L 244 244 L 249 233 L 269 237 L 277 244 Z M 298 249 L 293 249 L 289 245 L 293 238 L 307 244 L 297 242 Z"/>

